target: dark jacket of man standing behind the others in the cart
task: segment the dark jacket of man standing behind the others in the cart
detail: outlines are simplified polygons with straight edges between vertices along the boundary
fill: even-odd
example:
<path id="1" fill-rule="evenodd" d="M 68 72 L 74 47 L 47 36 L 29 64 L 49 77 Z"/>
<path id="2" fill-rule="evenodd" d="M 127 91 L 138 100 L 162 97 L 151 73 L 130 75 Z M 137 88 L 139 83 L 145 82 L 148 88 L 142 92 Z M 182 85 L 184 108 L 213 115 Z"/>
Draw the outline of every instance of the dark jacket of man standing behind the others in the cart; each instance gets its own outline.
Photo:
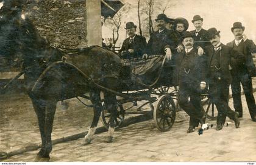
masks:
<path id="1" fill-rule="evenodd" d="M 202 47 L 202 49 L 204 49 L 205 46 L 208 46 L 211 44 L 206 36 L 207 30 L 201 29 L 197 35 L 196 35 L 196 30 L 192 30 L 191 33 L 193 34 L 193 38 L 194 38 L 194 47 L 200 46 Z"/>

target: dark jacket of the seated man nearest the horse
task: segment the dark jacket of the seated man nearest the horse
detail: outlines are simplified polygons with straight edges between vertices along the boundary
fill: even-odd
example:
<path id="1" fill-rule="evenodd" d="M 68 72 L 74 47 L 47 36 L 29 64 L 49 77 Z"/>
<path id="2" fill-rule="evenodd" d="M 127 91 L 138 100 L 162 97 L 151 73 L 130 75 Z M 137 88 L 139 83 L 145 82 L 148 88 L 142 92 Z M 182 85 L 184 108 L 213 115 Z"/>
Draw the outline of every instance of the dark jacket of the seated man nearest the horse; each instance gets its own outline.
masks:
<path id="1" fill-rule="evenodd" d="M 128 51 L 128 49 L 133 49 L 134 52 L 133 53 L 126 52 L 124 55 L 125 57 L 122 57 L 122 58 L 142 57 L 143 51 L 147 44 L 146 38 L 140 35 L 135 35 L 134 40 L 131 44 L 129 43 L 129 40 L 130 38 L 126 38 L 126 40 L 124 40 L 123 45 L 119 52 Z"/>

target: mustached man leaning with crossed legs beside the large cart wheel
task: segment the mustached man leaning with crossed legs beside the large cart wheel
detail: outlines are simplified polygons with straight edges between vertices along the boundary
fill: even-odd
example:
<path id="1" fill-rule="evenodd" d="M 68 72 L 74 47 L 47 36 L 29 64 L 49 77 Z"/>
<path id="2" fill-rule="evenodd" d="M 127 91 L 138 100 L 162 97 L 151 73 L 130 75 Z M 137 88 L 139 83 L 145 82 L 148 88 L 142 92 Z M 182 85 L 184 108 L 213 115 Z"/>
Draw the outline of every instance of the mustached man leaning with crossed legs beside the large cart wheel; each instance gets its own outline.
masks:
<path id="1" fill-rule="evenodd" d="M 179 84 L 178 102 L 180 107 L 190 116 L 190 127 L 187 133 L 194 132 L 199 122 L 204 124 L 205 112 L 201 104 L 201 90 L 204 90 L 206 60 L 205 55 L 199 56 L 193 47 L 193 35 L 184 32 L 182 44 L 185 50 L 177 54 L 176 85 Z M 188 98 L 190 97 L 190 101 Z"/>

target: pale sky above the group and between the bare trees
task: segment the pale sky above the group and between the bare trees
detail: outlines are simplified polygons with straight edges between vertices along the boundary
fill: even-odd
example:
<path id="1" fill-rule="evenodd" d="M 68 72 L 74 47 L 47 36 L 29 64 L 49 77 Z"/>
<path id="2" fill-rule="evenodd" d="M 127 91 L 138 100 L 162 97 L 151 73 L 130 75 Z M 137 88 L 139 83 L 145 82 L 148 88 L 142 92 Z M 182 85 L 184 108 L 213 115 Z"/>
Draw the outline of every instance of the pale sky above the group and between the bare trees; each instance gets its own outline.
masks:
<path id="1" fill-rule="evenodd" d="M 141 0 L 143 1 L 143 0 Z M 165 4 L 166 0 L 155 0 L 159 4 Z M 194 15 L 201 15 L 204 18 L 204 29 L 216 27 L 221 31 L 222 43 L 226 44 L 233 40 L 233 34 L 230 28 L 236 21 L 241 21 L 245 26 L 244 33 L 247 38 L 256 42 L 256 1 L 255 0 L 169 0 L 171 6 L 165 14 L 171 18 L 183 17 L 188 19 L 190 26 L 188 30 L 194 30 L 191 23 Z M 131 6 L 131 10 L 123 15 L 120 39 L 117 45 L 120 45 L 126 37 L 124 26 L 126 22 L 133 21 L 138 25 L 137 3 L 138 0 L 123 0 L 126 5 Z M 142 3 L 144 4 L 144 3 Z M 154 13 L 153 19 L 158 13 Z M 102 37 L 112 37 L 111 30 L 102 27 Z"/>

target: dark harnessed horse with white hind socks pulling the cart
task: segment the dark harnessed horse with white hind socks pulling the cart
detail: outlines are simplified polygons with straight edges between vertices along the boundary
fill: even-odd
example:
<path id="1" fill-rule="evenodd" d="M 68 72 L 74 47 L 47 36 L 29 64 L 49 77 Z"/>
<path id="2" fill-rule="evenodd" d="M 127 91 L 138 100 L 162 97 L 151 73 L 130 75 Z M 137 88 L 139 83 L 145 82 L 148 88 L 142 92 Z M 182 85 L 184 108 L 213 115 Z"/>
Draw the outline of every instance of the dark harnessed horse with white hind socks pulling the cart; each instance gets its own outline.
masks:
<path id="1" fill-rule="evenodd" d="M 64 99 L 90 93 L 93 104 L 94 116 L 84 143 L 89 144 L 93 139 L 96 127 L 103 109 L 99 88 L 118 88 L 118 76 L 121 70 L 121 60 L 112 51 L 100 46 L 73 49 L 73 54 L 67 60 L 72 65 L 66 65 L 61 61 L 65 52 L 50 46 L 47 40 L 40 37 L 37 29 L 29 18 L 24 18 L 24 1 L 6 1 L 1 8 L 1 51 L 9 52 L 10 55 L 20 52 L 23 58 L 24 85 L 32 100 L 37 114 L 38 126 L 41 135 L 41 149 L 37 153 L 35 161 L 47 161 L 50 159 L 52 150 L 52 126 L 57 102 Z M 9 29 L 9 33 L 4 30 Z M 12 52 L 10 52 L 12 50 Z M 81 69 L 82 72 L 74 69 Z M 98 85 L 93 81 L 97 80 Z M 113 141 L 115 119 L 117 115 L 116 94 L 104 91 L 105 108 L 111 114 L 110 127 L 108 128 L 107 142 Z"/>

